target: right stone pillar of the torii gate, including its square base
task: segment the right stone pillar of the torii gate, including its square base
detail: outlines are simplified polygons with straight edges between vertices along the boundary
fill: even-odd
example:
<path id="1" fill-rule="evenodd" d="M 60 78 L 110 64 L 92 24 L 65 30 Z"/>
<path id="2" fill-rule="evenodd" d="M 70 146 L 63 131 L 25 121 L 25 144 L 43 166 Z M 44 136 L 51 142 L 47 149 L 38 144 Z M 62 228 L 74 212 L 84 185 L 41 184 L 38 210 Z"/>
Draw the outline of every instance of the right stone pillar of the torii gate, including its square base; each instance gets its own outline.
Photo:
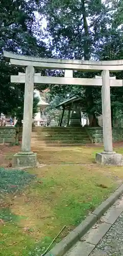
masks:
<path id="1" fill-rule="evenodd" d="M 96 76 L 95 78 L 101 78 Z M 110 101 L 110 77 L 108 70 L 102 71 L 102 114 L 103 114 L 103 138 L 104 152 L 96 153 L 96 163 L 109 165 L 122 165 L 122 155 L 113 152 L 112 126 L 111 126 L 111 101 Z M 116 79 L 113 77 L 113 79 Z"/>

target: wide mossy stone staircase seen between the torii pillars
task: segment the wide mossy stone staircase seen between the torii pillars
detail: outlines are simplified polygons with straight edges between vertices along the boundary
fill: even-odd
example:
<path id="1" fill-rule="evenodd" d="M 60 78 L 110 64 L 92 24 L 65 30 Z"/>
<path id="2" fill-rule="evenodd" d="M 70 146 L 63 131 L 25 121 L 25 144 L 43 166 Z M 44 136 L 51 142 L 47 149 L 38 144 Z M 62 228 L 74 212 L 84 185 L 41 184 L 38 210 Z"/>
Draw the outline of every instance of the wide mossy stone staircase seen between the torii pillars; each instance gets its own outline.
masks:
<path id="1" fill-rule="evenodd" d="M 90 144 L 85 127 L 33 127 L 31 145 L 79 146 Z"/>

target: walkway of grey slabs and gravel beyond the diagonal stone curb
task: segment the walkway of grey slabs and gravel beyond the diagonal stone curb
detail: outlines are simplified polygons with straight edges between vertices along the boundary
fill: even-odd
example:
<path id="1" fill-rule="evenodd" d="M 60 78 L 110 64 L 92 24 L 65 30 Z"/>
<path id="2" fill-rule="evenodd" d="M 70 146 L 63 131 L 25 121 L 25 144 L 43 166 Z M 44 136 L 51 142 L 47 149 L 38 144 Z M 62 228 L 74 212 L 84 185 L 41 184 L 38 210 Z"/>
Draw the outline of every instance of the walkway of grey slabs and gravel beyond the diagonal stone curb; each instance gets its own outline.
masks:
<path id="1" fill-rule="evenodd" d="M 65 256 L 123 256 L 123 197 Z"/>

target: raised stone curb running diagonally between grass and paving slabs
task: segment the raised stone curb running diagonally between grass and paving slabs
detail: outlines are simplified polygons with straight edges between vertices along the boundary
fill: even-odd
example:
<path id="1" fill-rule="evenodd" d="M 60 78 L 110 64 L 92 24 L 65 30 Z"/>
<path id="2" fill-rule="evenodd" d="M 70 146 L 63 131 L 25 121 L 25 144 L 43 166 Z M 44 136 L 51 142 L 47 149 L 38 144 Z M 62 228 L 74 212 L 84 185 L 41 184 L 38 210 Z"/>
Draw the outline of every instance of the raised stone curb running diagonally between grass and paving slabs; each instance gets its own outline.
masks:
<path id="1" fill-rule="evenodd" d="M 84 236 L 84 234 L 96 223 L 98 219 L 112 206 L 112 204 L 123 193 L 123 184 L 116 189 L 116 191 L 106 199 L 99 207 L 97 207 L 92 214 L 82 221 L 75 229 L 73 229 L 62 241 L 60 241 L 53 249 L 45 254 L 45 256 L 63 256 L 71 246 Z"/>

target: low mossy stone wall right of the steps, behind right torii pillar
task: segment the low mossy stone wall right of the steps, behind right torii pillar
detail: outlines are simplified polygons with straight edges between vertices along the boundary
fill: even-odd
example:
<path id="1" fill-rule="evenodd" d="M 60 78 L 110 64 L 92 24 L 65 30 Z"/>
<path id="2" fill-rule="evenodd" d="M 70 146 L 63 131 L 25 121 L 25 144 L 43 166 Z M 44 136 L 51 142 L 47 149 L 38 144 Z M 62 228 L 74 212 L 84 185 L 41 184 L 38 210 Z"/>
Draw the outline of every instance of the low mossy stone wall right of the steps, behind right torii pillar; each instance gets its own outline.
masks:
<path id="1" fill-rule="evenodd" d="M 88 127 L 94 143 L 103 143 L 103 128 L 102 127 Z M 123 128 L 112 129 L 113 142 L 123 141 Z"/>

